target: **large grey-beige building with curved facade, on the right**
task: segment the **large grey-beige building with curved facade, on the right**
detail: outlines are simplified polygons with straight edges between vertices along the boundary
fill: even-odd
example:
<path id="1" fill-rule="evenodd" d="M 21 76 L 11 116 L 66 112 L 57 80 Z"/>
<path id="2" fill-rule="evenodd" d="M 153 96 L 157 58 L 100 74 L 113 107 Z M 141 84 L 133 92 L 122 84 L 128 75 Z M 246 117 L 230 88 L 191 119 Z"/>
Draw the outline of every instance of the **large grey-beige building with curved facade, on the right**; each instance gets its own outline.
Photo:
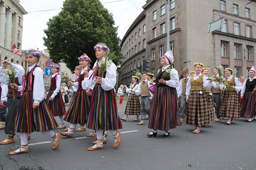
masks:
<path id="1" fill-rule="evenodd" d="M 252 0 L 169 0 L 170 41 L 166 39 L 166 0 L 147 0 L 143 11 L 121 41 L 124 55 L 120 83 L 129 84 L 141 60 L 149 72 L 162 67 L 167 45 L 174 54 L 174 68 L 181 73 L 194 62 L 205 67 L 221 64 L 236 77 L 248 75 L 256 60 L 256 2 Z M 223 28 L 207 33 L 208 24 L 225 17 Z"/>

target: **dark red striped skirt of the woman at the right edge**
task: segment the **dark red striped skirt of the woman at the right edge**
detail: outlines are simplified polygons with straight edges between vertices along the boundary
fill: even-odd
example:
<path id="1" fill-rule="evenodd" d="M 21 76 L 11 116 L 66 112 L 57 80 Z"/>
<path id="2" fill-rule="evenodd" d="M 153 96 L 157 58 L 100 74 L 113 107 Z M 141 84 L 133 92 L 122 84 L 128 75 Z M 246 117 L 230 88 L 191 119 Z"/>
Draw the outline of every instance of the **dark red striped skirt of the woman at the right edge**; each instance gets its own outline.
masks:
<path id="1" fill-rule="evenodd" d="M 245 92 L 240 117 L 253 118 L 254 116 L 256 116 L 256 92 Z"/>

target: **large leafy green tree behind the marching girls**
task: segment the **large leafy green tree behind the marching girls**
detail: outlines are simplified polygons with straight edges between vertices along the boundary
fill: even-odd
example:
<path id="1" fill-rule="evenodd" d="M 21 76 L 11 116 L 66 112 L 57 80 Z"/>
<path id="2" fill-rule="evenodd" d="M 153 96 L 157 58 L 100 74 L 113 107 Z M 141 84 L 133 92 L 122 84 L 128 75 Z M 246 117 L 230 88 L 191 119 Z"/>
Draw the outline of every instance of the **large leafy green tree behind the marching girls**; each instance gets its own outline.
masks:
<path id="1" fill-rule="evenodd" d="M 83 53 L 91 58 L 93 65 L 97 60 L 93 47 L 103 42 L 116 51 L 113 62 L 118 66 L 122 59 L 121 39 L 114 24 L 112 14 L 99 0 L 65 0 L 62 11 L 47 22 L 44 45 L 53 62 L 64 62 L 74 70 L 79 64 L 77 58 Z"/>

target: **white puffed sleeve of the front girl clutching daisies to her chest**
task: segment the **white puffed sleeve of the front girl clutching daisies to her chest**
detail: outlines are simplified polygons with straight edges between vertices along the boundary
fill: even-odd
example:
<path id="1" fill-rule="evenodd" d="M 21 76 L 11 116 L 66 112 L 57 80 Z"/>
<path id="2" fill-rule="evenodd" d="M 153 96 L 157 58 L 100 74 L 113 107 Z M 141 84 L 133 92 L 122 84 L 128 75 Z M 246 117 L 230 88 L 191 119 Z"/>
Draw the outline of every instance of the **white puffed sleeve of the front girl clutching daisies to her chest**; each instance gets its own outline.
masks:
<path id="1" fill-rule="evenodd" d="M 107 67 L 106 71 L 106 78 L 102 78 L 102 82 L 100 84 L 104 90 L 109 91 L 115 87 L 117 82 L 117 66 L 112 63 L 109 67 Z"/>

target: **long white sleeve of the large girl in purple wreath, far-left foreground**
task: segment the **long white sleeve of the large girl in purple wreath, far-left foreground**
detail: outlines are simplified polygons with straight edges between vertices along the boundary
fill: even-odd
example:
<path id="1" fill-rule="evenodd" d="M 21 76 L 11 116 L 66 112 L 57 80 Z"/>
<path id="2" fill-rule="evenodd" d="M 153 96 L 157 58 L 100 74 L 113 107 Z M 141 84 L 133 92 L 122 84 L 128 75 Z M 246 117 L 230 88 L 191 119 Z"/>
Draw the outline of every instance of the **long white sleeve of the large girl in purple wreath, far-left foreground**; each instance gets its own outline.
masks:
<path id="1" fill-rule="evenodd" d="M 45 89 L 44 89 L 44 71 L 42 68 L 37 67 L 33 71 L 34 78 L 34 91 L 33 91 L 33 99 L 35 103 L 40 103 L 44 100 Z"/>

